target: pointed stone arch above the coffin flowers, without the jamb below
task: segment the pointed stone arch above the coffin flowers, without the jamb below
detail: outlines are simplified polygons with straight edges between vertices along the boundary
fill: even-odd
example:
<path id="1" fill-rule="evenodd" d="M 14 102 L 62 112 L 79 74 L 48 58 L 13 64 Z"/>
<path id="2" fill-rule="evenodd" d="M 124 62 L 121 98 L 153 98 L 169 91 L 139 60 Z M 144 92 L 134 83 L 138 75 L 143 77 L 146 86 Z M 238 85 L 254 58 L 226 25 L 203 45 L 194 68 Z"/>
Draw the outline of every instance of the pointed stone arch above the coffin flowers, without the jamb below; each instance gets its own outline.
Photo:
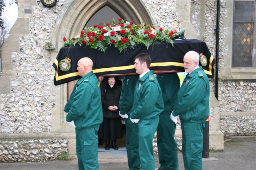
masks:
<path id="1" fill-rule="evenodd" d="M 154 25 L 150 12 L 140 0 L 74 0 L 68 6 L 60 24 L 54 28 L 52 42 L 56 49 L 62 47 L 61 40 L 64 36 L 78 35 L 87 21 L 104 6 L 112 8 L 124 20 Z"/>

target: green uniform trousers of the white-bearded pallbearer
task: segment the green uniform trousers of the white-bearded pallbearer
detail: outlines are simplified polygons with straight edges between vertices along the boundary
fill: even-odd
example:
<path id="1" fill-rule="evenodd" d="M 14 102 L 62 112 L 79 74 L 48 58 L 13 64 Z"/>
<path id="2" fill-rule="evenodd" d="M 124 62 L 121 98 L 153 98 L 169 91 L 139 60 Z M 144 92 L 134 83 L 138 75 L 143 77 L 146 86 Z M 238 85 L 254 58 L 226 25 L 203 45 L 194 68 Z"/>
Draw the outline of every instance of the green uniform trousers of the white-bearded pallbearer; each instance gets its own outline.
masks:
<path id="1" fill-rule="evenodd" d="M 181 121 L 182 156 L 185 170 L 202 170 L 204 123 Z"/>

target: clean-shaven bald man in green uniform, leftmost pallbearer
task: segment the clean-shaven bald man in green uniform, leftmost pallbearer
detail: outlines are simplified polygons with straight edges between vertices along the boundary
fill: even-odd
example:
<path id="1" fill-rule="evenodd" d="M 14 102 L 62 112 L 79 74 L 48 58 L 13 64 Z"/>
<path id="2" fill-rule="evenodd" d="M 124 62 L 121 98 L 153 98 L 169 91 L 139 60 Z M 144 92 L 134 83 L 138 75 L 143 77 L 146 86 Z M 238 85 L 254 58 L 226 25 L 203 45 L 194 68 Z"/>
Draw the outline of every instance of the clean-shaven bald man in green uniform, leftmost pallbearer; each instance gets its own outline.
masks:
<path id="1" fill-rule="evenodd" d="M 98 170 L 98 129 L 103 121 L 98 78 L 92 72 L 93 62 L 84 57 L 77 63 L 80 78 L 64 111 L 66 121 L 76 126 L 76 154 L 79 170 Z"/>

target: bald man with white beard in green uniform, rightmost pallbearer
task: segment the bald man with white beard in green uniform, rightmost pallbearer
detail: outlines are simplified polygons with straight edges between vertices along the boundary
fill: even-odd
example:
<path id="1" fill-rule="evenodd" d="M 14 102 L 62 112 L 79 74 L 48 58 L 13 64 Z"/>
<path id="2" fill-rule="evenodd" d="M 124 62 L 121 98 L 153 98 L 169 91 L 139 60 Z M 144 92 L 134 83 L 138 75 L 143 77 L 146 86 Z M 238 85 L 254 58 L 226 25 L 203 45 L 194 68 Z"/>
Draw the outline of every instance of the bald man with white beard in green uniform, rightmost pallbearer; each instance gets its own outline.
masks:
<path id="1" fill-rule="evenodd" d="M 171 119 L 180 116 L 185 170 L 202 170 L 203 135 L 209 116 L 209 81 L 199 63 L 199 54 L 189 51 L 183 58 L 188 73 L 176 96 Z"/>

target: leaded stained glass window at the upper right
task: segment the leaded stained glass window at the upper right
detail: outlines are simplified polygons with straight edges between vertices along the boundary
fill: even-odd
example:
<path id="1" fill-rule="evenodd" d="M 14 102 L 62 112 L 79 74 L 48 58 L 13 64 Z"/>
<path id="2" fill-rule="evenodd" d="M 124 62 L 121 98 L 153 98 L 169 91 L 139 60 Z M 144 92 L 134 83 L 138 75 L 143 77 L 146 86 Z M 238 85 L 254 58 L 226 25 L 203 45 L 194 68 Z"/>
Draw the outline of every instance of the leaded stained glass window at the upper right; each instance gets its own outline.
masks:
<path id="1" fill-rule="evenodd" d="M 232 67 L 252 67 L 254 0 L 234 2 Z"/>

